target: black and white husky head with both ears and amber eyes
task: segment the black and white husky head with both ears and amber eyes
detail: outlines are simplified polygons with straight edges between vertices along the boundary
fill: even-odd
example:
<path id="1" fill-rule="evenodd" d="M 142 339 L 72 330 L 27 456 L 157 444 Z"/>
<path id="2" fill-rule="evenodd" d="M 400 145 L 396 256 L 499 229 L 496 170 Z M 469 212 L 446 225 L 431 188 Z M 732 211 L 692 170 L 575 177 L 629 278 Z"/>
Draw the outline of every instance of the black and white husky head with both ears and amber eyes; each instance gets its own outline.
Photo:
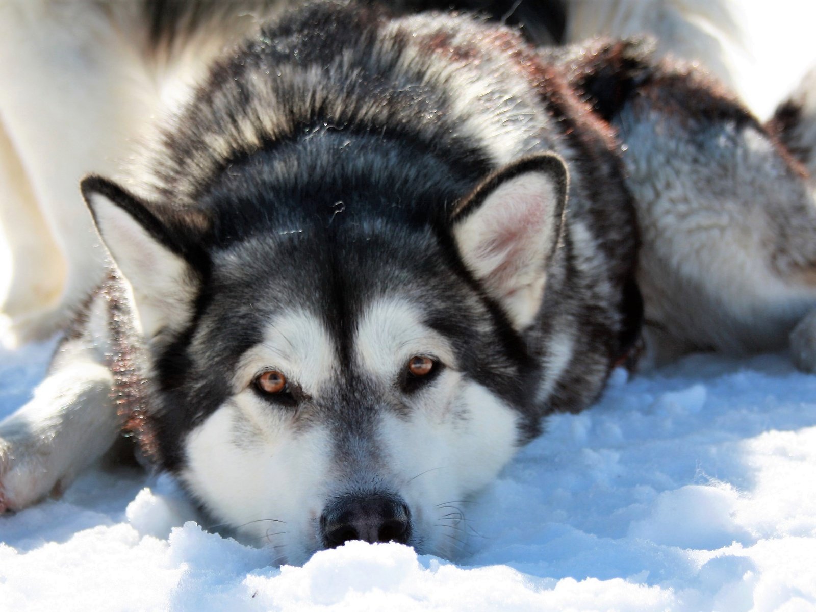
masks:
<path id="1" fill-rule="evenodd" d="M 522 332 L 560 232 L 559 159 L 491 176 L 444 226 L 354 216 L 347 197 L 342 226 L 272 215 L 224 240 L 212 211 L 83 192 L 149 340 L 156 454 L 217 521 L 290 563 L 349 539 L 458 551 L 461 504 L 535 427 Z"/>

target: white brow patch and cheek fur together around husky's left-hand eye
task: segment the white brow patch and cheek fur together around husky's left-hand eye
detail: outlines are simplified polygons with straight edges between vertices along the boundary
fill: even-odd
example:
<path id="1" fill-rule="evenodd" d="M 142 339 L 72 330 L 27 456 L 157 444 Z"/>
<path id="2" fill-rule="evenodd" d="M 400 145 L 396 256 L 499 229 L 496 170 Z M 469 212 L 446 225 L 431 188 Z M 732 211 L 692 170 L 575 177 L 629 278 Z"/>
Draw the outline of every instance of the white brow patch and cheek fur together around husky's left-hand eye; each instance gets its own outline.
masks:
<path id="1" fill-rule="evenodd" d="M 273 561 L 303 562 L 318 548 L 332 445 L 326 428 L 299 426 L 295 408 L 259 396 L 253 380 L 263 370 L 280 370 L 317 397 L 336 364 L 335 346 L 317 317 L 275 317 L 263 341 L 239 361 L 233 397 L 185 441 L 182 478 L 189 489 L 219 521 L 271 546 Z"/>

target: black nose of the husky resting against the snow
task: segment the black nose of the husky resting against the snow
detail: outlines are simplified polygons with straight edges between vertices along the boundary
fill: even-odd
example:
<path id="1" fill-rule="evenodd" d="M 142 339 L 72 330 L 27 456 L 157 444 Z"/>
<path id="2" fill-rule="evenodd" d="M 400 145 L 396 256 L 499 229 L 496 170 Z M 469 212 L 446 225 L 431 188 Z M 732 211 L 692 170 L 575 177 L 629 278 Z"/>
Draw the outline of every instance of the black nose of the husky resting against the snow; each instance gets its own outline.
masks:
<path id="1" fill-rule="evenodd" d="M 320 517 L 323 545 L 335 548 L 353 539 L 407 543 L 410 519 L 406 504 L 389 494 L 344 495 Z"/>

